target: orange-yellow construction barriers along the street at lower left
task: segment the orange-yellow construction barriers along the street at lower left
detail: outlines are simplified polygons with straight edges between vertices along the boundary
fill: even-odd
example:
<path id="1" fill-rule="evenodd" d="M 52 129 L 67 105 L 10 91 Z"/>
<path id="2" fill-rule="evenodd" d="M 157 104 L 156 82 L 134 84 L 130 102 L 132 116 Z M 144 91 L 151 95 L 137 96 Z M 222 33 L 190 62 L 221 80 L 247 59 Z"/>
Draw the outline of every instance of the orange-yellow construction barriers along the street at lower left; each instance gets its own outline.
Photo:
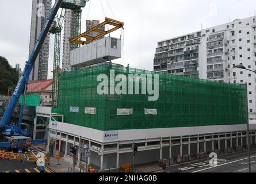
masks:
<path id="1" fill-rule="evenodd" d="M 24 154 L 16 154 L 13 152 L 0 151 L 0 159 L 23 160 L 23 156 L 24 156 Z M 40 158 L 36 158 L 33 155 L 28 155 L 28 157 L 27 157 L 28 162 L 36 162 L 37 159 L 40 159 Z M 50 158 L 48 156 L 45 156 L 44 163 L 48 164 L 49 162 L 50 162 Z"/>

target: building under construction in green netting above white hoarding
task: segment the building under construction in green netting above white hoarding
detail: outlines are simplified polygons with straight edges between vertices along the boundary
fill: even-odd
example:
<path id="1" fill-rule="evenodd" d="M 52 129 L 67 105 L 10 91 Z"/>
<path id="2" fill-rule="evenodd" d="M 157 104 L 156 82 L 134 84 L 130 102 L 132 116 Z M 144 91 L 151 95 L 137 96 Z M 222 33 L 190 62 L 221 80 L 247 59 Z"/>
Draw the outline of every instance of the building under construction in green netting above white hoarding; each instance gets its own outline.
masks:
<path id="1" fill-rule="evenodd" d="M 143 94 L 98 94 L 97 77 L 110 78 L 111 71 L 127 78 L 157 74 L 113 64 L 61 74 L 49 141 L 54 140 L 55 150 L 62 155 L 71 155 L 70 147 L 83 142 L 89 145 L 90 155 L 82 156 L 83 162 L 104 170 L 133 160 L 134 164 L 174 162 L 181 155 L 186 161 L 198 154 L 246 146 L 244 86 L 159 74 L 157 101 L 148 101 Z M 255 144 L 256 126 L 251 128 L 251 144 Z M 133 156 L 135 147 L 138 152 Z"/>

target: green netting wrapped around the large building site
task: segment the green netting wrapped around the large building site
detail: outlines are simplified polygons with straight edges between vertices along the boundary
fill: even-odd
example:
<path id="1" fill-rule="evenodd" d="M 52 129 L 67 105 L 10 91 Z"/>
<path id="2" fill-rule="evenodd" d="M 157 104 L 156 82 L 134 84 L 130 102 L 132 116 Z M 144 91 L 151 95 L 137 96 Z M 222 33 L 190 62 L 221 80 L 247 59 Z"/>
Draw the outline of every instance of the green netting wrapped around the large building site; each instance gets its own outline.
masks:
<path id="1" fill-rule="evenodd" d="M 110 78 L 110 70 L 116 75 L 158 74 L 158 101 L 148 101 L 148 94 L 141 92 L 97 94 L 101 83 L 97 76 L 105 74 Z M 96 112 L 87 114 L 85 108 L 95 108 L 90 110 Z M 117 109 L 133 109 L 133 113 L 117 116 Z M 157 115 L 146 115 L 144 109 L 155 109 Z M 242 85 L 104 64 L 61 74 L 58 108 L 53 112 L 63 114 L 64 122 L 101 131 L 246 124 L 246 91 Z"/>

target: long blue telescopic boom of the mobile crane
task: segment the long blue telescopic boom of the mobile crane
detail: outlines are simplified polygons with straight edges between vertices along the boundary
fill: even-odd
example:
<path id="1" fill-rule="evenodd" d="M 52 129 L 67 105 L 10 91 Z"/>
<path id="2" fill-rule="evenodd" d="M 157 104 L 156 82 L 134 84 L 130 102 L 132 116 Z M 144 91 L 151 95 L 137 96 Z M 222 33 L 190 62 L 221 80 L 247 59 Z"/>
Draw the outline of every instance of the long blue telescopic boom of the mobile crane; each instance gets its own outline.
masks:
<path id="1" fill-rule="evenodd" d="M 44 43 L 45 37 L 47 36 L 49 29 L 51 28 L 52 22 L 54 21 L 54 18 L 56 16 L 56 14 L 58 13 L 58 10 L 59 10 L 62 2 L 63 2 L 63 0 L 55 1 L 54 6 L 52 7 L 51 13 L 49 14 L 49 17 L 47 18 L 47 20 L 43 26 L 43 29 L 41 30 L 40 36 L 37 39 L 35 46 L 32 49 L 32 52 L 30 53 L 29 59 L 25 64 L 25 68 L 22 72 L 22 75 L 20 76 L 20 79 L 17 83 L 16 89 L 14 90 L 12 98 L 10 99 L 10 102 L 9 102 L 9 105 L 7 106 L 5 114 L 2 117 L 0 127 L 5 127 L 6 135 L 14 135 L 14 134 L 18 133 L 18 128 L 14 128 L 14 127 L 8 125 L 9 121 L 12 117 L 12 114 L 13 114 L 16 104 L 20 98 L 20 95 L 21 95 L 22 91 L 25 89 L 25 85 L 29 81 L 30 72 L 32 71 L 32 69 L 34 67 L 36 58 L 39 55 L 39 52 Z"/>

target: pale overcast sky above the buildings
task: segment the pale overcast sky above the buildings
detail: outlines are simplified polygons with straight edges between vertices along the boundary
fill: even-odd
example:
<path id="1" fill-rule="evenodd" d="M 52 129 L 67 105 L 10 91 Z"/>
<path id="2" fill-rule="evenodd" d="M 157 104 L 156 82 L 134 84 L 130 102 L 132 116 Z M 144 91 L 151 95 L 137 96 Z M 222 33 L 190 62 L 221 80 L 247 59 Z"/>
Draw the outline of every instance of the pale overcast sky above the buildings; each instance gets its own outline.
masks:
<path id="1" fill-rule="evenodd" d="M 54 1 L 54 0 L 52 0 Z M 101 2 L 103 5 L 101 6 Z M 254 15 L 255 0 L 90 0 L 82 13 L 82 32 L 89 20 L 104 21 L 104 17 L 124 22 L 122 59 L 114 62 L 153 70 L 156 43 L 203 28 L 225 24 L 230 19 Z M 90 11 L 89 11 L 90 7 Z M 12 66 L 24 66 L 28 59 L 32 0 L 0 2 L 0 56 Z M 105 12 L 105 14 L 104 14 Z M 121 30 L 111 36 L 120 37 Z M 63 36 L 62 36 L 63 37 Z M 52 78 L 54 36 L 51 36 L 48 78 Z M 62 61 L 60 62 L 62 63 Z"/>

